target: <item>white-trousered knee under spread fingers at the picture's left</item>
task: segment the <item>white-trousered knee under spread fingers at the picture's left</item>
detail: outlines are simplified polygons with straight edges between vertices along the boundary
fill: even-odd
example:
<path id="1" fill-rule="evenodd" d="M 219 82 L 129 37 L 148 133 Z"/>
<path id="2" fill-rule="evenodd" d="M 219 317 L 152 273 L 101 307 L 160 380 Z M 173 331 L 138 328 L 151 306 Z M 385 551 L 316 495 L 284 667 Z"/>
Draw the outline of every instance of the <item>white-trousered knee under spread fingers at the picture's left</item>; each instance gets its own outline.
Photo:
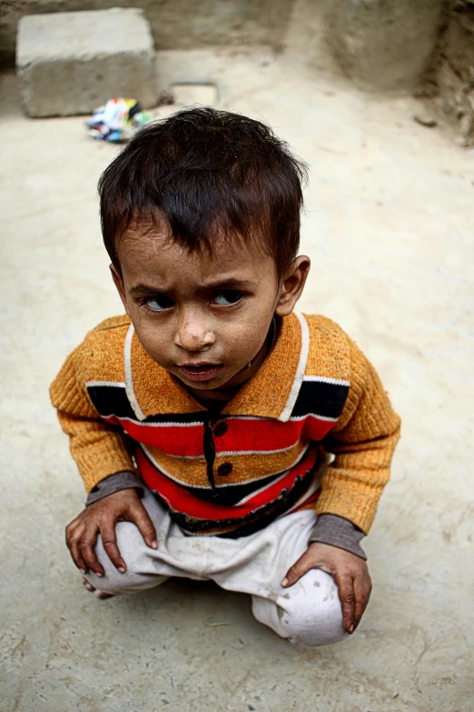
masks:
<path id="1" fill-rule="evenodd" d="M 110 594 L 133 593 L 146 587 L 144 584 L 149 577 L 143 576 L 146 567 L 143 566 L 143 557 L 146 555 L 146 545 L 143 537 L 134 524 L 118 522 L 115 526 L 117 546 L 126 564 L 126 570 L 121 574 L 114 567 L 104 549 L 102 537 L 97 537 L 95 554 L 104 567 L 104 576 L 97 577 L 92 572 L 86 575 L 87 580 L 96 588 Z"/>

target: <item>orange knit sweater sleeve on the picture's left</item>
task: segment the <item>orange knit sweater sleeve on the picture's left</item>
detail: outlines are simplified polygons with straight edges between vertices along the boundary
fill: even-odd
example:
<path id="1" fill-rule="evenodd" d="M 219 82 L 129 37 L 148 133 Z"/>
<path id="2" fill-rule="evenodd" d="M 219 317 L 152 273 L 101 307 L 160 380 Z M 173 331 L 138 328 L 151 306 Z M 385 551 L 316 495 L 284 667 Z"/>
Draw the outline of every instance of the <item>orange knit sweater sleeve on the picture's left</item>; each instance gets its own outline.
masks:
<path id="1" fill-rule="evenodd" d="M 123 470 L 134 472 L 135 466 L 122 429 L 103 420 L 87 395 L 80 356 L 78 346 L 54 379 L 50 395 L 89 493 L 105 477 Z"/>

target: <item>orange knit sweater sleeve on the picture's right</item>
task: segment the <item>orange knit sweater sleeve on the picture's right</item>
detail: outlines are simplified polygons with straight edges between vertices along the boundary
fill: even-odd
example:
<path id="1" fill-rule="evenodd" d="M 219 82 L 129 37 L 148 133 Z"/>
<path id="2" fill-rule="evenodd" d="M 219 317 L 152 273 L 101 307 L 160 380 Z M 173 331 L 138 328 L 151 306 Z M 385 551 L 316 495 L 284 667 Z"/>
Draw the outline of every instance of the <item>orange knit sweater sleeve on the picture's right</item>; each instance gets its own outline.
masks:
<path id="1" fill-rule="evenodd" d="M 316 514 L 342 516 L 368 534 L 390 477 L 400 417 L 373 366 L 350 344 L 351 386 L 341 417 L 322 443 L 335 459 L 322 475 Z"/>

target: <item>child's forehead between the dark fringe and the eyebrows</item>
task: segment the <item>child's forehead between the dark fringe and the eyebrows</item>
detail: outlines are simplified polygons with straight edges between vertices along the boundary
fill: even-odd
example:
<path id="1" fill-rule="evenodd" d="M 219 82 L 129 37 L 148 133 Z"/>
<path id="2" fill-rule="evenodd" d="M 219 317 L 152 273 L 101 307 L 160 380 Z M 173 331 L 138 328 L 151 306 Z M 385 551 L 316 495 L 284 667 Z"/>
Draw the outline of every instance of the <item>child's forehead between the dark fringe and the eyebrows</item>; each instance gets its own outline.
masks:
<path id="1" fill-rule="evenodd" d="M 202 286 L 217 279 L 260 282 L 275 277 L 271 256 L 257 244 L 247 245 L 236 236 L 218 238 L 212 252 L 190 252 L 159 229 L 134 228 L 117 245 L 124 280 L 171 287 L 180 282 Z"/>

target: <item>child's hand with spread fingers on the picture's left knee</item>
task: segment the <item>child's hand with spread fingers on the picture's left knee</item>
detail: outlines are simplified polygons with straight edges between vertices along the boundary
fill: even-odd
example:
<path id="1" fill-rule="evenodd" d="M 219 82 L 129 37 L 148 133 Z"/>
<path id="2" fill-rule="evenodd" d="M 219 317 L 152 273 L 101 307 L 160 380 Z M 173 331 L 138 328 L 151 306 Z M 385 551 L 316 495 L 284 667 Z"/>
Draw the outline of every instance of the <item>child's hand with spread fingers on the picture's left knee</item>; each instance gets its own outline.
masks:
<path id="1" fill-rule="evenodd" d="M 158 546 L 153 522 L 140 497 L 134 489 L 122 489 L 86 507 L 66 526 L 66 545 L 82 574 L 91 569 L 96 576 L 104 576 L 104 568 L 97 561 L 94 551 L 98 534 L 102 536 L 104 549 L 114 567 L 123 574 L 126 565 L 117 547 L 117 522 L 133 522 L 148 547 L 155 549 Z"/>

